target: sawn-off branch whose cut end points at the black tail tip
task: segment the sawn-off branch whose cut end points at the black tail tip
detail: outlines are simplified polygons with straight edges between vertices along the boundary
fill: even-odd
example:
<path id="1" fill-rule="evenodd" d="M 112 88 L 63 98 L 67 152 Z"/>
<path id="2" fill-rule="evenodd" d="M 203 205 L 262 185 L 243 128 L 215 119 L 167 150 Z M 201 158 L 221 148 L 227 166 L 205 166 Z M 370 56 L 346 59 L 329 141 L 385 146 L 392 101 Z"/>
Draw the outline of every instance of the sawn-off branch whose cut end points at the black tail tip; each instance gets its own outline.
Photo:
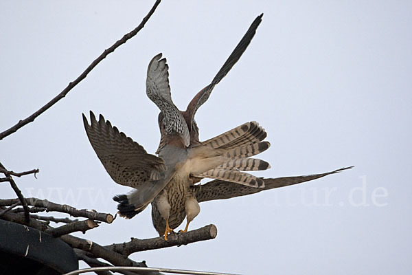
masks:
<path id="1" fill-rule="evenodd" d="M 11 206 L 16 203 L 17 199 L 0 199 L 0 206 Z M 47 208 L 47 211 L 58 211 L 62 213 L 70 214 L 73 217 L 84 217 L 88 219 L 93 219 L 97 221 L 104 221 L 105 223 L 113 222 L 113 215 L 106 213 L 95 212 L 95 210 L 87 209 L 76 209 L 73 206 L 68 206 L 67 204 L 58 204 L 52 201 L 47 201 L 47 199 L 37 199 L 34 197 L 27 198 L 27 203 L 30 206 Z"/>

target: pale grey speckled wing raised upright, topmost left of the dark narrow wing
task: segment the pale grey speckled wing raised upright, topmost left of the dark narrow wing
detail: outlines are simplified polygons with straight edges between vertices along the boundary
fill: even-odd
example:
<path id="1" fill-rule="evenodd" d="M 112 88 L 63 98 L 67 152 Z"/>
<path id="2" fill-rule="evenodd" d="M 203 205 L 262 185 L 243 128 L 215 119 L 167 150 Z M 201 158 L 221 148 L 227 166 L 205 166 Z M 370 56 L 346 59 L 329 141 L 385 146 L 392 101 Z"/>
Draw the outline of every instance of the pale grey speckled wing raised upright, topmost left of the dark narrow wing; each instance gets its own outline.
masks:
<path id="1" fill-rule="evenodd" d="M 146 94 L 159 107 L 163 114 L 163 125 L 168 134 L 180 135 L 185 146 L 190 144 L 189 129 L 183 115 L 174 105 L 170 94 L 169 72 L 166 58 L 158 54 L 149 63 L 146 79 Z"/>

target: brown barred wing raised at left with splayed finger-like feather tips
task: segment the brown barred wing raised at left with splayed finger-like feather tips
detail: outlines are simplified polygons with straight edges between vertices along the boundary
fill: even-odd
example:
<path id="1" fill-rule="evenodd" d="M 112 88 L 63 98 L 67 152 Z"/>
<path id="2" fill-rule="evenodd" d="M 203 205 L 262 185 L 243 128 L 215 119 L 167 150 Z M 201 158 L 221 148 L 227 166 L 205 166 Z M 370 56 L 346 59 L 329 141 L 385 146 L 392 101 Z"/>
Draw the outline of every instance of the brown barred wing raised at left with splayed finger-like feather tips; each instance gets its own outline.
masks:
<path id="1" fill-rule="evenodd" d="M 161 179 L 166 170 L 163 159 L 146 153 L 141 145 L 104 120 L 103 115 L 97 121 L 90 111 L 90 119 L 89 125 L 83 114 L 84 129 L 91 146 L 117 184 L 141 189 L 146 181 Z"/>

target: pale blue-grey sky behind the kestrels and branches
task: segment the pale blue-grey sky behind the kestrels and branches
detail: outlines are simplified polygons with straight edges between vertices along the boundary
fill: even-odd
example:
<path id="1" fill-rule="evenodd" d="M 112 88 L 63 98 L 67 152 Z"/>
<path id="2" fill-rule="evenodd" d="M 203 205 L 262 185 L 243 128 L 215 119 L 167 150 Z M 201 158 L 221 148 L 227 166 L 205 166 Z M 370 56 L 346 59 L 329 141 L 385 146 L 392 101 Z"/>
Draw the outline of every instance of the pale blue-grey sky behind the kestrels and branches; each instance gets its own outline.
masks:
<path id="1" fill-rule="evenodd" d="M 1 1 L 0 131 L 43 106 L 153 1 Z M 257 195 L 201 203 L 190 228 L 218 236 L 134 254 L 151 267 L 240 274 L 411 274 L 412 2 L 163 1 L 146 27 L 32 124 L 0 142 L 26 196 L 115 213 L 127 192 L 84 132 L 93 110 L 150 153 L 158 109 L 146 69 L 168 58 L 176 105 L 207 85 L 258 14 L 251 45 L 199 109 L 201 140 L 250 120 L 268 132 L 262 177 L 353 170 Z M 14 197 L 7 184 L 1 197 Z M 329 195 L 326 195 L 329 194 Z M 157 236 L 150 209 L 83 238 L 100 244 Z"/>

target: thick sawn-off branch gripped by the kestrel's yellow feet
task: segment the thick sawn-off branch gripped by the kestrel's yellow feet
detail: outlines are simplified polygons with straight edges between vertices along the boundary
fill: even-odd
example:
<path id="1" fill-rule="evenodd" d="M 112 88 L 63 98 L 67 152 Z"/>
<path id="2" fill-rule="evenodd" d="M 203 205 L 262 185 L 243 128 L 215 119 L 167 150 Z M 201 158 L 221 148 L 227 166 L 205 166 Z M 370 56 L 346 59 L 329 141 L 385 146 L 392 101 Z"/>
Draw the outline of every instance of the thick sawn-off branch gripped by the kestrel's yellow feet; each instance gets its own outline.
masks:
<path id="1" fill-rule="evenodd" d="M 188 243 L 194 243 L 196 241 L 206 241 L 216 238 L 217 234 L 218 229 L 216 228 L 216 226 L 209 224 L 203 228 L 188 231 L 185 233 L 170 234 L 168 236 L 168 241 L 165 241 L 164 236 L 143 240 L 133 238 L 132 241 L 129 241 L 127 243 L 113 243 L 112 245 L 105 245 L 104 248 L 108 248 L 117 253 L 128 256 L 139 251 L 156 250 L 159 248 L 169 248 L 176 245 L 187 245 Z"/>

